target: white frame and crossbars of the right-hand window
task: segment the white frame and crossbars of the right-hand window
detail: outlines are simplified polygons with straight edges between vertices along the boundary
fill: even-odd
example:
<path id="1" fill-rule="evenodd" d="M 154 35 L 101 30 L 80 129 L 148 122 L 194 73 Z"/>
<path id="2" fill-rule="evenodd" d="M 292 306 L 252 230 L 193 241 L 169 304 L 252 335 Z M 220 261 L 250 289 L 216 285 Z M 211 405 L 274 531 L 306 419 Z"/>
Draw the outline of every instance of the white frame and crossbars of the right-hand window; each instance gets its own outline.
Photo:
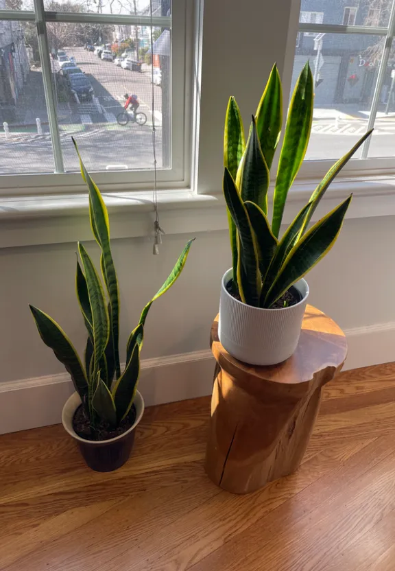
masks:
<path id="1" fill-rule="evenodd" d="M 395 0 L 393 0 L 392 10 L 390 13 L 390 19 L 387 27 L 374 27 L 374 26 L 359 26 L 359 25 L 337 25 L 337 24 L 309 24 L 301 23 L 299 21 L 299 14 L 291 14 L 291 19 L 289 21 L 289 45 L 291 45 L 291 40 L 294 40 L 294 45 L 296 43 L 296 34 L 298 32 L 311 32 L 311 34 L 316 35 L 320 33 L 326 34 L 368 34 L 372 36 L 384 36 L 385 37 L 385 47 L 383 49 L 383 54 L 381 56 L 381 62 L 379 66 L 379 73 L 376 81 L 376 86 L 374 89 L 374 95 L 371 105 L 371 113 L 368 121 L 366 130 L 374 127 L 374 121 L 376 119 L 376 113 L 379 106 L 379 97 L 381 86 L 383 84 L 385 70 L 387 67 L 387 62 L 390 57 L 390 50 L 392 45 L 392 40 L 395 36 Z M 394 40 L 395 41 L 395 40 Z M 294 53 L 287 53 L 285 59 L 285 68 L 287 69 L 289 75 L 292 73 L 294 66 Z M 287 79 L 286 79 L 287 80 Z M 290 78 L 289 78 L 290 84 Z M 370 147 L 370 138 L 363 143 L 361 149 L 361 158 L 351 159 L 345 165 L 342 170 L 342 176 L 393 176 L 395 174 L 395 158 L 392 156 L 388 157 L 378 157 L 378 158 L 368 158 L 368 150 Z M 302 167 L 300 168 L 300 174 L 298 174 L 299 180 L 304 179 L 318 179 L 324 176 L 325 172 L 333 165 L 333 160 L 305 160 Z"/>

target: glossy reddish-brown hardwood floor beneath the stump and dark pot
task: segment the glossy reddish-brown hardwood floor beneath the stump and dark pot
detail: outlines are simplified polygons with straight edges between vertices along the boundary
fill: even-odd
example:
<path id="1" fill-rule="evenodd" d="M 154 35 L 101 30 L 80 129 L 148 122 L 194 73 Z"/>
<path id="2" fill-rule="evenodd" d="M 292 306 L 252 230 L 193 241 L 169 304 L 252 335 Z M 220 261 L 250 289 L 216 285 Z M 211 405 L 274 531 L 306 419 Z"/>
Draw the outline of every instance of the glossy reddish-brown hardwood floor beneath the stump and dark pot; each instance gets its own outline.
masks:
<path id="1" fill-rule="evenodd" d="M 109 474 L 61 426 L 0 436 L 0 570 L 395 570 L 395 364 L 328 384 L 298 472 L 249 496 L 204 474 L 208 411 L 148 409 Z"/>

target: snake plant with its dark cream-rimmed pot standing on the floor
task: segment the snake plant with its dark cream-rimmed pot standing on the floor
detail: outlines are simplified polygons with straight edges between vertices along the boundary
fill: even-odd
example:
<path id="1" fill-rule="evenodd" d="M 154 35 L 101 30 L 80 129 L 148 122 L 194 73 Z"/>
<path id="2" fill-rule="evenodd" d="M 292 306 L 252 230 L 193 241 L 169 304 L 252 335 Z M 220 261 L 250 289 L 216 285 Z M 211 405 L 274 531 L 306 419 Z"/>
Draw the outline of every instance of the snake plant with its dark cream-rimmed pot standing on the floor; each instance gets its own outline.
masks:
<path id="1" fill-rule="evenodd" d="M 80 158 L 79 153 L 78 156 Z M 75 284 L 88 331 L 84 364 L 60 325 L 37 307 L 29 307 L 41 338 L 64 364 L 75 387 L 75 393 L 63 408 L 63 426 L 77 441 L 89 467 L 97 471 L 111 471 L 128 460 L 134 442 L 134 429 L 143 415 L 144 402 L 137 391 L 137 382 L 145 319 L 152 303 L 180 275 L 193 240 L 189 240 L 169 277 L 141 312 L 139 324 L 128 339 L 125 369 L 121 372 L 119 289 L 110 249 L 108 212 L 81 158 L 80 165 L 82 177 L 88 185 L 91 228 L 101 250 L 100 269 L 105 286 L 102 287 L 99 273 L 86 249 L 78 243 L 80 261 L 77 259 Z"/>

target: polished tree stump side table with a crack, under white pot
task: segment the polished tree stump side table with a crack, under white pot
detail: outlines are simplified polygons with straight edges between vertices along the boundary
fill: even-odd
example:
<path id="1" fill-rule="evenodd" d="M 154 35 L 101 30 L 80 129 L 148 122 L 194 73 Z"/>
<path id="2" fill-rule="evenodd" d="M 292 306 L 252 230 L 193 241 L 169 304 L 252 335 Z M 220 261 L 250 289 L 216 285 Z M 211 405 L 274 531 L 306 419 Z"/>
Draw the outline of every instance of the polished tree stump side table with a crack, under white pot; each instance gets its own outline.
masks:
<path id="1" fill-rule="evenodd" d="M 215 366 L 206 452 L 208 476 L 225 490 L 248 493 L 294 472 L 309 443 L 322 386 L 346 360 L 342 329 L 307 305 L 293 356 L 272 366 L 232 358 L 211 329 Z"/>

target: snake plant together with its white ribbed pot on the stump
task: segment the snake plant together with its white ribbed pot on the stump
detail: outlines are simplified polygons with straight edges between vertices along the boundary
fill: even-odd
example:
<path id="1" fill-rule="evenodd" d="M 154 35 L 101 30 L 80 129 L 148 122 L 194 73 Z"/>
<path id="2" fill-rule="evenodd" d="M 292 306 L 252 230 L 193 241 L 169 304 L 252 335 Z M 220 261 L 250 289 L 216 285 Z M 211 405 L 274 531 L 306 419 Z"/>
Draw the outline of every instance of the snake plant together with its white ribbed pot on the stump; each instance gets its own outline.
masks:
<path id="1" fill-rule="evenodd" d="M 252 116 L 247 143 L 239 107 L 230 97 L 224 136 L 224 196 L 232 268 L 222 279 L 219 340 L 235 358 L 254 365 L 282 362 L 294 353 L 309 287 L 304 275 L 332 248 L 352 196 L 309 227 L 335 176 L 372 131 L 331 167 L 283 235 L 287 194 L 309 143 L 313 75 L 302 69 L 289 105 L 274 183 L 272 220 L 267 213 L 270 167 L 282 124 L 281 80 L 274 65 Z"/>

